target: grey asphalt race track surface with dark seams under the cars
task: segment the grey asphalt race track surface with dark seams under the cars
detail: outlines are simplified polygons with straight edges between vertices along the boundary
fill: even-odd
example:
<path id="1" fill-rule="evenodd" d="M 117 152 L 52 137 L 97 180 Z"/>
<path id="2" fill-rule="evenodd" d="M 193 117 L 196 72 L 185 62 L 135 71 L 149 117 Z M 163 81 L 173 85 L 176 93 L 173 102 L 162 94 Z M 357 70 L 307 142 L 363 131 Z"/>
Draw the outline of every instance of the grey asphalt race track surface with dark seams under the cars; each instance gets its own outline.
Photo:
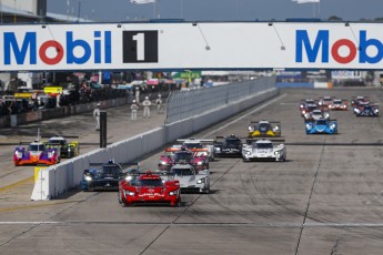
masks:
<path id="1" fill-rule="evenodd" d="M 382 254 L 382 116 L 332 112 L 339 134 L 306 135 L 300 100 L 321 95 L 383 102 L 381 89 L 282 90 L 193 135 L 245 135 L 250 121 L 266 119 L 281 121 L 294 145 L 284 163 L 216 159 L 211 194 L 183 194 L 181 207 L 123 208 L 114 192 L 29 202 L 27 184 L 0 190 L 0 254 Z M 142 159 L 143 169 L 154 169 L 160 154 Z"/>

